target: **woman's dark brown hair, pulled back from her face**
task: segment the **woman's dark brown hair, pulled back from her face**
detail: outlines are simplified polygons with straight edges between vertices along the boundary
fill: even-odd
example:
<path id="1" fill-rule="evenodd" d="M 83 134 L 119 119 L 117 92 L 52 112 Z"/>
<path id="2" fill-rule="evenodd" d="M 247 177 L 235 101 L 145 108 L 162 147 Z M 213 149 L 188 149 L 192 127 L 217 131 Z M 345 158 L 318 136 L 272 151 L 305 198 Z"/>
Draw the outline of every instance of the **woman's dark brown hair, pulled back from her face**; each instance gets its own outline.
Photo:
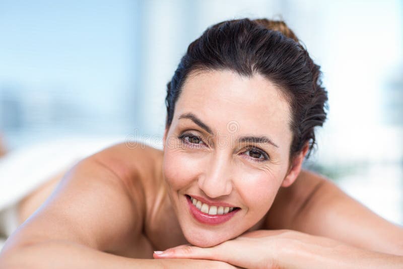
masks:
<path id="1" fill-rule="evenodd" d="M 245 77 L 262 75 L 284 94 L 290 104 L 293 132 L 290 159 L 309 142 L 315 145 L 315 126 L 326 119 L 327 92 L 315 64 L 297 36 L 283 21 L 248 18 L 220 22 L 194 40 L 167 84 L 166 127 L 175 103 L 191 72 L 230 70 Z"/>

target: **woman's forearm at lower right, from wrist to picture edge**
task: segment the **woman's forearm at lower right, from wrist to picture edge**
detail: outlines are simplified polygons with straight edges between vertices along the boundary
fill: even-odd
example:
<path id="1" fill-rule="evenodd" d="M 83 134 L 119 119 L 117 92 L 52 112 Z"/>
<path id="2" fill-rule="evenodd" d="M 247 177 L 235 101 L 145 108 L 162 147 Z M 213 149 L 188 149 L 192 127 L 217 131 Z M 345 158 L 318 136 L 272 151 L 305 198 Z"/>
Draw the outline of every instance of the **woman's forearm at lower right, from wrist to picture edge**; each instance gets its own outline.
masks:
<path id="1" fill-rule="evenodd" d="M 286 268 L 403 268 L 403 256 L 360 249 L 343 243 L 333 246 L 298 243 L 280 255 Z M 290 258 L 293 257 L 293 258 Z"/>

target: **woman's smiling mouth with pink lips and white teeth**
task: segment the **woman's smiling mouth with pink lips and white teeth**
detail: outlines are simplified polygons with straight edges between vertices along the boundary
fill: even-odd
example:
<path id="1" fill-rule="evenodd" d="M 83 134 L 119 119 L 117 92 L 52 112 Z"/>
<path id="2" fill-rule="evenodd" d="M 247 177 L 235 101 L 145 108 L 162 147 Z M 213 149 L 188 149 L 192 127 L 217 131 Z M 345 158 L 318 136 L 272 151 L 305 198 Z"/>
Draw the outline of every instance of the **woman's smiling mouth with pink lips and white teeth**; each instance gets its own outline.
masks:
<path id="1" fill-rule="evenodd" d="M 229 221 L 241 209 L 227 207 L 225 205 L 209 205 L 200 200 L 185 195 L 191 215 L 195 220 L 203 224 L 218 225 Z"/>

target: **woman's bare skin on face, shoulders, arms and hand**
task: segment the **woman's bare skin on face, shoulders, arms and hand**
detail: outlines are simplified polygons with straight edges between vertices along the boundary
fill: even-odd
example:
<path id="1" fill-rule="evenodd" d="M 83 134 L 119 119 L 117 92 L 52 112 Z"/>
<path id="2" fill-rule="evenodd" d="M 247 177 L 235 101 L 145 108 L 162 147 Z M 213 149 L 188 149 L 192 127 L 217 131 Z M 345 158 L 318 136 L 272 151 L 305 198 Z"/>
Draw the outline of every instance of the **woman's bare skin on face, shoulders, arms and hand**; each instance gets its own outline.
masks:
<path id="1" fill-rule="evenodd" d="M 246 90 L 264 87 L 264 93 L 246 95 Z M 228 98 L 213 98 L 227 88 L 232 89 Z M 8 239 L 0 253 L 0 267 L 403 265 L 401 227 L 380 218 L 330 180 L 301 170 L 307 147 L 288 163 L 286 149 L 291 136 L 285 119 L 289 111 L 267 81 L 258 76 L 239 78 L 230 72 L 199 74 L 189 80 L 184 93 L 175 108 L 175 120 L 165 130 L 165 142 L 167 138 L 178 142 L 181 130 L 191 129 L 204 137 L 204 130 L 189 119 L 176 120 L 181 112 L 204 116 L 204 121 L 221 133 L 227 127 L 227 115 L 231 115 L 239 122 L 240 133 L 261 134 L 264 126 L 271 126 L 267 129 L 280 150 L 255 146 L 264 148 L 272 162 L 255 163 L 251 156 L 256 157 L 256 153 L 245 151 L 243 144 L 236 147 L 240 151 L 233 151 L 207 140 L 204 148 L 178 150 L 165 144 L 164 151 L 141 144 L 115 145 L 84 159 L 62 177 L 45 203 Z M 204 96 L 192 102 L 199 93 Z M 254 105 L 245 102 L 239 112 L 246 96 L 254 98 Z M 257 117 L 255 110 L 261 111 L 270 100 L 273 113 L 263 112 L 261 115 L 266 116 Z M 209 113 L 209 109 L 213 111 Z M 218 117 L 219 109 L 227 113 Z M 258 124 L 262 120 L 265 124 Z M 186 123 L 180 123 L 183 121 Z M 258 127 L 252 130 L 253 126 Z M 175 167 L 189 160 L 197 164 L 215 161 L 193 169 Z M 233 169 L 237 173 L 229 173 L 232 165 L 236 165 Z M 271 171 L 270 176 L 266 171 Z M 248 175 L 250 182 L 242 182 L 240 175 Z M 220 178 L 223 182 L 218 181 Z M 251 184 L 253 180 L 270 189 L 257 189 Z M 214 229 L 193 223 L 185 214 L 182 195 L 197 191 L 236 204 L 241 208 L 237 214 L 242 213 L 239 216 L 244 221 L 233 222 L 233 231 L 224 235 L 220 227 L 216 228 L 217 237 Z M 29 205 L 30 199 L 25 203 Z M 268 211 L 260 211 L 261 205 Z M 189 232 L 191 229 L 196 233 Z M 189 246 L 203 244 L 200 235 L 205 236 L 204 246 L 208 247 Z M 152 259 L 154 250 L 165 249 L 169 250 L 163 256 L 154 254 Z"/>

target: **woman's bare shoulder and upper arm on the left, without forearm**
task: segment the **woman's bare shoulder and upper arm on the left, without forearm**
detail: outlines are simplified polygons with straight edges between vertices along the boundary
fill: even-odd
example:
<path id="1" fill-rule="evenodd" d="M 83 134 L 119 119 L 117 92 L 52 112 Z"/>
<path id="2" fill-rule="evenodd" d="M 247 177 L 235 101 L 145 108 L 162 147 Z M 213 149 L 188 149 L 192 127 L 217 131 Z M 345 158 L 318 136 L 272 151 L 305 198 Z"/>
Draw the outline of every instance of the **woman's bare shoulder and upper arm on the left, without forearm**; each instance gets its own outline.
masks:
<path id="1" fill-rule="evenodd" d="M 161 151 L 152 147 L 122 143 L 80 161 L 5 247 L 63 240 L 122 256 L 150 255 L 142 233 L 143 181 L 156 173 L 159 156 Z"/>

